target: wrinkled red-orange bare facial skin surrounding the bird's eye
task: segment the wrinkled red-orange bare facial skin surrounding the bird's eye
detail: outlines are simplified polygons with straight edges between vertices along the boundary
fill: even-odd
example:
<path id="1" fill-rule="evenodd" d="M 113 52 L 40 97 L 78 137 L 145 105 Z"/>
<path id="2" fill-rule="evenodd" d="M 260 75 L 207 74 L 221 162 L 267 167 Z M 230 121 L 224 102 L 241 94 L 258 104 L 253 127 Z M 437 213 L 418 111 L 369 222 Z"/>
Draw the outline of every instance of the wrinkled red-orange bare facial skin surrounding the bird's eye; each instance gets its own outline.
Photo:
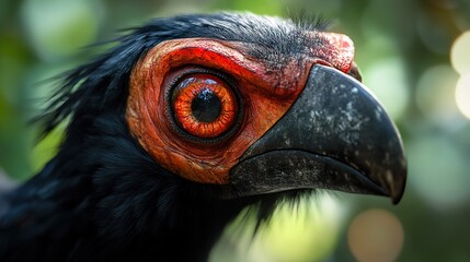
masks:
<path id="1" fill-rule="evenodd" d="M 301 93 L 314 63 L 347 72 L 354 57 L 347 36 L 321 34 L 324 48 L 278 69 L 243 53 L 243 43 L 205 38 L 174 39 L 153 47 L 135 66 L 126 119 L 130 132 L 153 159 L 168 170 L 202 183 L 228 183 L 230 169 Z M 330 51 L 329 51 L 330 50 Z M 240 96 L 240 124 L 216 142 L 202 142 L 175 130 L 167 93 L 174 80 L 193 69 L 210 69 L 233 80 Z M 279 69 L 280 68 L 280 69 Z M 173 81 L 173 82 L 172 82 Z"/>

